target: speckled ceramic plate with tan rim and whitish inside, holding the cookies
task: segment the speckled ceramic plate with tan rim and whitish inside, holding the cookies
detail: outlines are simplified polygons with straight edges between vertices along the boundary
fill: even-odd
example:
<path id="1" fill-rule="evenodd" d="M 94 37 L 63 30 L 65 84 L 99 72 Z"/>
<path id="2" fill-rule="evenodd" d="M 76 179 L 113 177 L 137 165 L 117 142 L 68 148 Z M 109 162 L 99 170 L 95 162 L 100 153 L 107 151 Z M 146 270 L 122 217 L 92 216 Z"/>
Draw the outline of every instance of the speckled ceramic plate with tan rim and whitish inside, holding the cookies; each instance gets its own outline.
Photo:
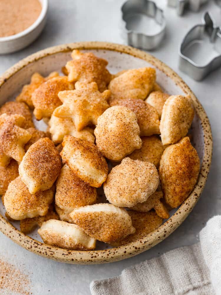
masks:
<path id="1" fill-rule="evenodd" d="M 212 134 L 210 123 L 201 104 L 189 87 L 168 66 L 152 55 L 138 49 L 104 42 L 81 42 L 55 46 L 39 51 L 21 60 L 10 68 L 0 78 L 0 104 L 12 100 L 21 90 L 22 86 L 29 83 L 34 72 L 46 76 L 52 71 L 59 71 L 70 60 L 73 49 L 92 51 L 96 55 L 108 60 L 108 69 L 111 73 L 130 68 L 151 66 L 156 68 L 157 83 L 169 94 L 189 94 L 192 98 L 195 117 L 191 126 L 192 144 L 197 149 L 201 161 L 201 170 L 194 190 L 187 200 L 178 209 L 171 212 L 171 217 L 154 232 L 140 240 L 117 248 L 106 248 L 99 243 L 95 251 L 73 251 L 48 246 L 41 242 L 37 231 L 32 235 L 24 235 L 19 231 L 19 222 L 11 224 L 3 216 L 4 207 L 0 207 L 0 230 L 14 242 L 38 255 L 66 263 L 107 263 L 125 259 L 148 250 L 168 237 L 184 219 L 189 215 L 197 203 L 206 183 L 212 158 Z M 38 122 L 38 128 L 44 128 Z"/>

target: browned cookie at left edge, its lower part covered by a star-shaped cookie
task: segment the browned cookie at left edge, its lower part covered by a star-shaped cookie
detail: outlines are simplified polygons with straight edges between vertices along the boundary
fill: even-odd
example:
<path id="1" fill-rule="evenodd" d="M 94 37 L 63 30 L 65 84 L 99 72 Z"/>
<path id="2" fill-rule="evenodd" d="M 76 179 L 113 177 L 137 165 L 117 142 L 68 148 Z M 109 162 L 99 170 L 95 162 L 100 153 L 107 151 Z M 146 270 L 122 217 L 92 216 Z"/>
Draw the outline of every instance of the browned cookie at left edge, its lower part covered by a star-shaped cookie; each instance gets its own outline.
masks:
<path id="1" fill-rule="evenodd" d="M 30 127 L 34 127 L 34 123 L 32 122 L 32 113 L 29 110 L 29 107 L 24 102 L 18 101 L 8 101 L 0 108 L 0 115 L 1 114 L 7 115 L 22 115 L 25 117 L 25 120 L 22 124 L 22 128 L 28 129 Z"/>

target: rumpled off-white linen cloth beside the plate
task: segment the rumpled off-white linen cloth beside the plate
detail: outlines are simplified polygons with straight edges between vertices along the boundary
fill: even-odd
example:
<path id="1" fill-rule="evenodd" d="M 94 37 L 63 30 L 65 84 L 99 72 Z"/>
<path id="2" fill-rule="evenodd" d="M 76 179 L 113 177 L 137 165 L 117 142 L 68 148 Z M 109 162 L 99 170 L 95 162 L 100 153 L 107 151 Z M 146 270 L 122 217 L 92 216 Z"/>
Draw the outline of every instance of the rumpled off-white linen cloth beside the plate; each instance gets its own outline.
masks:
<path id="1" fill-rule="evenodd" d="M 118 277 L 93 281 L 90 291 L 92 295 L 221 295 L 221 216 L 207 222 L 200 243 L 146 260 Z"/>

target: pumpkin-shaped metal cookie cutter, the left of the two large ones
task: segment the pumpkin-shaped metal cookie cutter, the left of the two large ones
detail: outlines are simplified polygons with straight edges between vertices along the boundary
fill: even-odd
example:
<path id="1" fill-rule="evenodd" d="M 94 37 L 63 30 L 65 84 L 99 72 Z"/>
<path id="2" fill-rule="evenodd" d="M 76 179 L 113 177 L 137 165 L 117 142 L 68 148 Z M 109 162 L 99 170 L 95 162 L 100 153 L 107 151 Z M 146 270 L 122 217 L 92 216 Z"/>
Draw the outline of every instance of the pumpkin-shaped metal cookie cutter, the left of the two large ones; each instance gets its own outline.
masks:
<path id="1" fill-rule="evenodd" d="M 166 21 L 162 9 L 149 0 L 128 0 L 121 7 L 124 31 L 129 45 L 152 50 L 159 46 L 166 32 Z M 145 34 L 145 27 L 140 27 L 144 17 L 151 17 L 160 27 L 156 34 Z M 133 29 L 132 29 L 133 28 Z"/>

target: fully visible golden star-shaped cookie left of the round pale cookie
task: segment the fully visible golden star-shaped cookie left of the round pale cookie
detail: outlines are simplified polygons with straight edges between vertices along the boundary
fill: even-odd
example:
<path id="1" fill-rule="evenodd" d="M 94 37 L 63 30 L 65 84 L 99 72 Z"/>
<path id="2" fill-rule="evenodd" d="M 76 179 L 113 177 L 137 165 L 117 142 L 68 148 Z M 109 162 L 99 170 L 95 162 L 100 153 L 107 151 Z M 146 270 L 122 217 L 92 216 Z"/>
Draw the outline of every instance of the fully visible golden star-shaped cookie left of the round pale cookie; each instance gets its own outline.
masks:
<path id="1" fill-rule="evenodd" d="M 90 123 L 96 125 L 98 117 L 108 109 L 110 90 L 100 93 L 95 82 L 76 82 L 75 90 L 61 91 L 58 97 L 63 104 L 53 114 L 60 118 L 71 118 L 76 130 L 80 131 Z"/>

